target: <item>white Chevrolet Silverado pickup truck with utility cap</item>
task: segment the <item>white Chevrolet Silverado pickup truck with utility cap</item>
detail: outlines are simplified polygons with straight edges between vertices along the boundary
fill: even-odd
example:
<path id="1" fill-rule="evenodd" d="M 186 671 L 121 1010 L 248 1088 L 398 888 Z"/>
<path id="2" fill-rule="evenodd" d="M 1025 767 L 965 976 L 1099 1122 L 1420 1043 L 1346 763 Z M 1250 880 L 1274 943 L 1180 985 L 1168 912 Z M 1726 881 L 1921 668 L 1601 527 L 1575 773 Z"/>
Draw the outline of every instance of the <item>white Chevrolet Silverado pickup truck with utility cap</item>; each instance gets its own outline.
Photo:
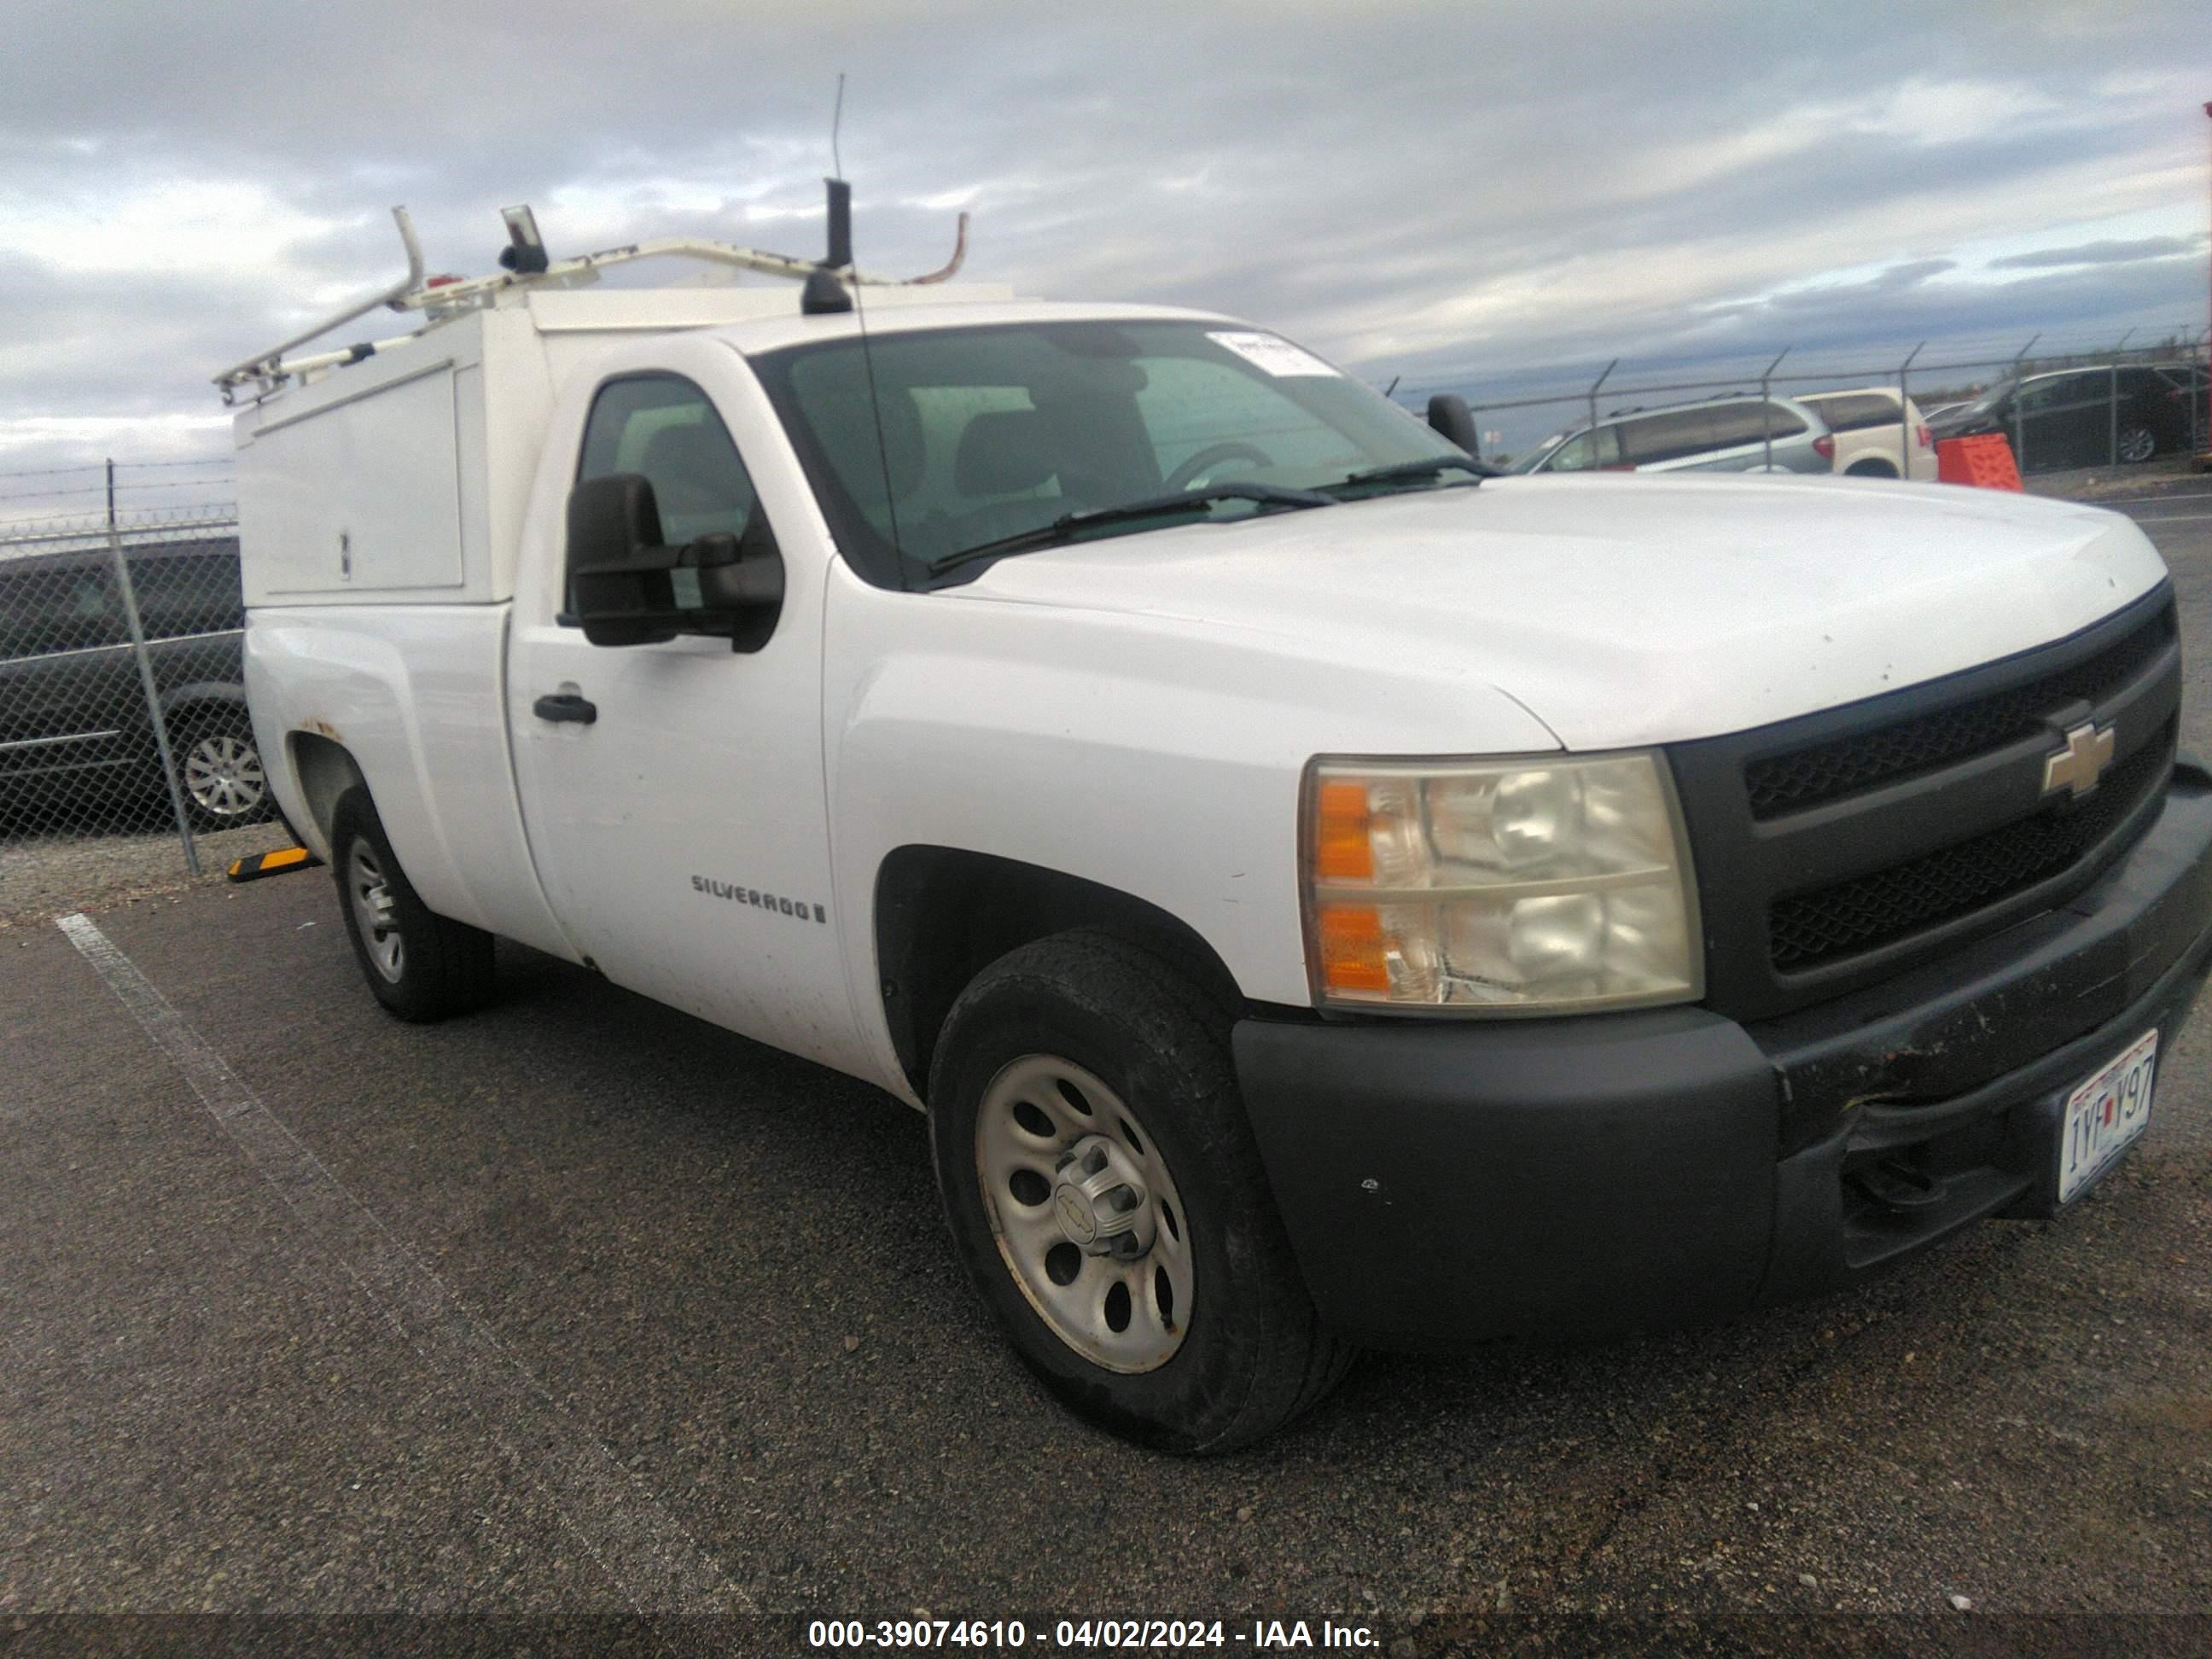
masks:
<path id="1" fill-rule="evenodd" d="M 407 299 L 228 376 L 254 728 L 369 989 L 473 1009 L 500 936 L 927 1110 L 1095 1422 L 1849 1285 L 2148 1119 L 2212 779 L 2126 518 L 1491 478 L 1186 310 Z"/>

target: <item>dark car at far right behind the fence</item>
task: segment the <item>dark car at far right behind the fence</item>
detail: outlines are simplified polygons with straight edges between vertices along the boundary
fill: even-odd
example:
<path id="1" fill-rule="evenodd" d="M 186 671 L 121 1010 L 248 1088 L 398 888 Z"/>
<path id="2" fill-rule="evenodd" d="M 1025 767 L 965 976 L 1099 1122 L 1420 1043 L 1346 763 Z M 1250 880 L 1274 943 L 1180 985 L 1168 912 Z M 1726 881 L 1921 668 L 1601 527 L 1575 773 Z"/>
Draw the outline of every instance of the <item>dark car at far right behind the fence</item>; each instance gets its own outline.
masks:
<path id="1" fill-rule="evenodd" d="M 2022 471 L 2108 467 L 2201 445 L 2203 400 L 2205 372 L 2194 363 L 2053 369 L 2000 380 L 1973 403 L 1929 416 L 1929 431 L 2002 431 Z"/>

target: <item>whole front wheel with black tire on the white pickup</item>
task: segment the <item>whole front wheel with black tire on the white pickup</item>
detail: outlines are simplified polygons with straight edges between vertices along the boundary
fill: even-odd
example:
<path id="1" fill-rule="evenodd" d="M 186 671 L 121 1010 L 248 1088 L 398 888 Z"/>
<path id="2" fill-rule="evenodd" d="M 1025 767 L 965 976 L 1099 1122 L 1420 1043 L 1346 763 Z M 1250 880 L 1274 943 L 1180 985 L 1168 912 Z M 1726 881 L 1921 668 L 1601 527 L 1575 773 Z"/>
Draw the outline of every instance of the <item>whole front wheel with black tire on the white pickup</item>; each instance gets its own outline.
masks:
<path id="1" fill-rule="evenodd" d="M 1077 1416 L 1177 1453 L 1274 1433 L 1356 1356 L 1305 1294 L 1228 1029 L 1168 962 L 1060 933 L 975 975 L 929 1075 L 953 1245 L 1015 1354 Z"/>

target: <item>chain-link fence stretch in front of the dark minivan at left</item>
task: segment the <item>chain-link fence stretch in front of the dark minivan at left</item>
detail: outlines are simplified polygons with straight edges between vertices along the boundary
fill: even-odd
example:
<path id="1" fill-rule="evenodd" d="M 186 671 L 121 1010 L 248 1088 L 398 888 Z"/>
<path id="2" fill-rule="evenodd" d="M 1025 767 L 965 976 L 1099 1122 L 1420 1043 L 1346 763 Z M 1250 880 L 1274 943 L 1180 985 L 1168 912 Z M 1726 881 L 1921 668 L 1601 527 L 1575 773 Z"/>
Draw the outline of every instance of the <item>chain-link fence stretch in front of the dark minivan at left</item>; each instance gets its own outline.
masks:
<path id="1" fill-rule="evenodd" d="M 0 520 L 0 874 L 111 838 L 137 838 L 148 874 L 199 874 L 276 818 L 246 714 L 237 509 L 161 504 L 228 487 L 212 469 L 84 471 L 0 473 L 0 502 L 64 502 Z"/>

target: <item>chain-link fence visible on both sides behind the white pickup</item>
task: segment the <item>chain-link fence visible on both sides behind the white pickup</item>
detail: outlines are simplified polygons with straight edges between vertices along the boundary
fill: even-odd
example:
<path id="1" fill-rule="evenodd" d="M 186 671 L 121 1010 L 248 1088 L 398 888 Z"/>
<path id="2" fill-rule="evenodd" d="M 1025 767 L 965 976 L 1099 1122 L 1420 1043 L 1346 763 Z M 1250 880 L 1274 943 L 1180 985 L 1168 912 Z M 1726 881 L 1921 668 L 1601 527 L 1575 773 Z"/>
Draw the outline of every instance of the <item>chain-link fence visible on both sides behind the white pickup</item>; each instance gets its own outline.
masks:
<path id="1" fill-rule="evenodd" d="M 1933 476 L 1931 438 L 1953 431 L 2002 431 L 2024 473 L 2212 449 L 2201 332 L 2033 354 L 2037 343 L 1942 363 L 1918 349 L 1891 363 L 1781 352 L 1694 378 L 1632 380 L 1615 361 L 1568 385 L 1522 372 L 1391 392 L 1467 396 L 1493 460 L 1566 438 L 1546 462 L 1562 469 L 1575 434 L 1590 434 L 1579 465 L 1635 465 L 1632 434 L 1615 427 L 1657 409 L 1849 392 L 1882 403 L 1814 405 L 1838 440 L 1836 471 Z M 1898 418 L 1905 400 L 1918 420 Z M 1772 445 L 1776 427 L 1763 434 Z M 27 860 L 51 865 L 55 847 L 128 838 L 148 874 L 150 860 L 199 874 L 281 838 L 281 825 L 248 836 L 276 807 L 246 717 L 241 630 L 228 462 L 0 471 L 0 883 Z"/>

